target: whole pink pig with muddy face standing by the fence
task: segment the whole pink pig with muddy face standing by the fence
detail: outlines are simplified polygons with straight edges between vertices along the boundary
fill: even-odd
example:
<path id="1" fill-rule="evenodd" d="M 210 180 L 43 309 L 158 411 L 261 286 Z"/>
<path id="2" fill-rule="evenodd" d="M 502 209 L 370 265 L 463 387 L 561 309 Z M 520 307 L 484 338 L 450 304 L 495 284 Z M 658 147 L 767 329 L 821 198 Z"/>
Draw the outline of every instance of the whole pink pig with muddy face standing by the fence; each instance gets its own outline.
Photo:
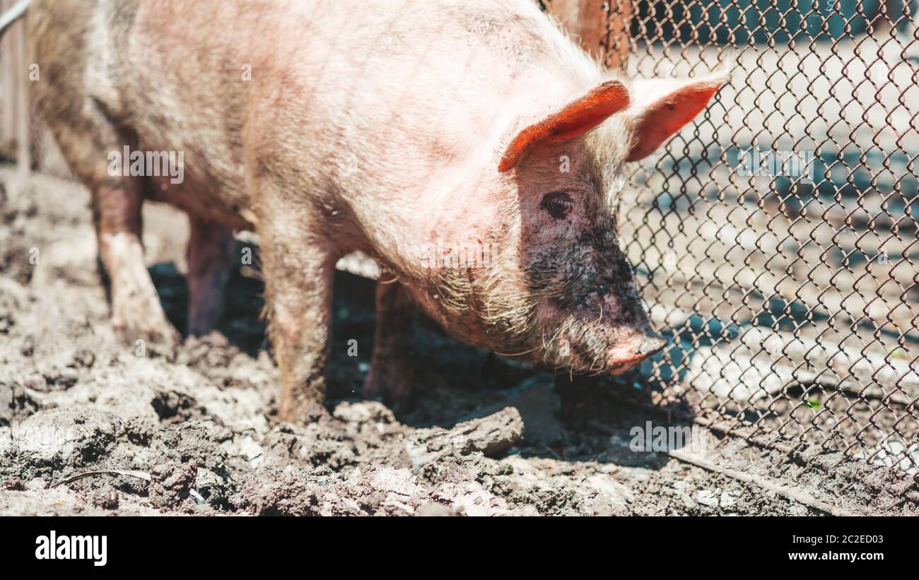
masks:
<path id="1" fill-rule="evenodd" d="M 326 413 L 335 263 L 354 251 L 383 272 L 366 395 L 395 406 L 412 402 L 419 313 L 578 373 L 665 345 L 618 238 L 626 168 L 722 72 L 606 71 L 532 0 L 33 0 L 28 54 L 34 103 L 91 193 L 116 329 L 176 338 L 143 202 L 187 212 L 193 335 L 220 318 L 234 231 L 258 234 L 281 420 Z M 120 151 L 162 155 L 126 172 Z M 155 171 L 166 153 L 181 171 Z M 470 248 L 487 259 L 456 259 Z"/>

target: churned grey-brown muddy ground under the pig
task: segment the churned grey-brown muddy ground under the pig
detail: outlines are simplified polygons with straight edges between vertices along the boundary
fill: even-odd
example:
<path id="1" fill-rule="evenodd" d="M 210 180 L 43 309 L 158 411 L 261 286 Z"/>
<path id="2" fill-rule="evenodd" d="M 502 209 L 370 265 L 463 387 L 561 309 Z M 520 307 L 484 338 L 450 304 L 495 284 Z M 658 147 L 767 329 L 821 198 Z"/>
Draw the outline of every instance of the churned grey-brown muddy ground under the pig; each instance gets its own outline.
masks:
<path id="1" fill-rule="evenodd" d="M 635 377 L 562 404 L 551 374 L 431 325 L 417 331 L 416 407 L 393 415 L 361 396 L 373 283 L 346 273 L 333 418 L 278 424 L 257 260 L 234 274 L 219 332 L 127 343 L 108 325 L 85 191 L 9 167 L 0 184 L 2 514 L 919 513 L 913 478 L 840 453 L 700 428 L 675 452 L 633 452 L 630 429 L 686 426 L 686 409 L 653 407 Z M 148 204 L 145 219 L 153 279 L 184 328 L 185 218 Z"/>

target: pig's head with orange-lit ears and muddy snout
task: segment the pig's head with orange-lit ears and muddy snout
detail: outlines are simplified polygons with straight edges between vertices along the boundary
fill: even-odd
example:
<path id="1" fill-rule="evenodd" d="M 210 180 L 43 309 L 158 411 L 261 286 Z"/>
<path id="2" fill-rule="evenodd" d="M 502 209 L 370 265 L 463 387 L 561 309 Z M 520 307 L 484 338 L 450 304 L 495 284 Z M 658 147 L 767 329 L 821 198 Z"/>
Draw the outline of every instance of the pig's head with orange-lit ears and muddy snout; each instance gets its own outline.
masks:
<path id="1" fill-rule="evenodd" d="M 463 209 L 484 262 L 437 268 L 425 309 L 460 339 L 579 372 L 623 373 L 664 348 L 618 238 L 626 163 L 696 117 L 723 80 L 612 80 L 525 117 Z"/>

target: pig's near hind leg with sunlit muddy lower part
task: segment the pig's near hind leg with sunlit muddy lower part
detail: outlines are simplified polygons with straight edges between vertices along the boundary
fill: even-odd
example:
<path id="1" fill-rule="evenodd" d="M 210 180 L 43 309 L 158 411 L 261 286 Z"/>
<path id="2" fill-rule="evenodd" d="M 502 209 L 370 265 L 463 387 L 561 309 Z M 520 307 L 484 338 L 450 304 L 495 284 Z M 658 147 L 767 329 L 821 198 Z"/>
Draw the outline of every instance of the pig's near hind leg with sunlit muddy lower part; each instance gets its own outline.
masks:
<path id="1" fill-rule="evenodd" d="M 96 20 L 104 20 L 96 18 L 101 8 L 77 4 L 34 6 L 28 58 L 51 72 L 42 74 L 40 83 L 30 84 L 32 101 L 71 171 L 90 192 L 113 325 L 131 341 L 171 341 L 176 331 L 147 272 L 141 243 L 145 178 L 127 175 L 121 157 L 125 147 L 137 151 L 138 139 L 117 120 L 124 118 L 122 103 L 106 76 L 114 70 L 113 62 L 96 53 L 108 46 L 102 44 L 108 33 L 94 30 Z"/>

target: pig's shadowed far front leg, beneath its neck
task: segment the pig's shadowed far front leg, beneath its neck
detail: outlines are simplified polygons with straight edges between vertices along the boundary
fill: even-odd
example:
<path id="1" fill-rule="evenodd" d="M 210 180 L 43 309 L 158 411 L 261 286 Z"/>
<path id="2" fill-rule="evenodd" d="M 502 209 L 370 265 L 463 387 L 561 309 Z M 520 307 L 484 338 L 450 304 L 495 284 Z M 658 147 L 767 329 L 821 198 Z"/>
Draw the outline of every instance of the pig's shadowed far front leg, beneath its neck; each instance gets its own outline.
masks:
<path id="1" fill-rule="evenodd" d="M 364 391 L 396 409 L 412 403 L 416 312 L 402 284 L 377 283 L 377 329 Z"/>

